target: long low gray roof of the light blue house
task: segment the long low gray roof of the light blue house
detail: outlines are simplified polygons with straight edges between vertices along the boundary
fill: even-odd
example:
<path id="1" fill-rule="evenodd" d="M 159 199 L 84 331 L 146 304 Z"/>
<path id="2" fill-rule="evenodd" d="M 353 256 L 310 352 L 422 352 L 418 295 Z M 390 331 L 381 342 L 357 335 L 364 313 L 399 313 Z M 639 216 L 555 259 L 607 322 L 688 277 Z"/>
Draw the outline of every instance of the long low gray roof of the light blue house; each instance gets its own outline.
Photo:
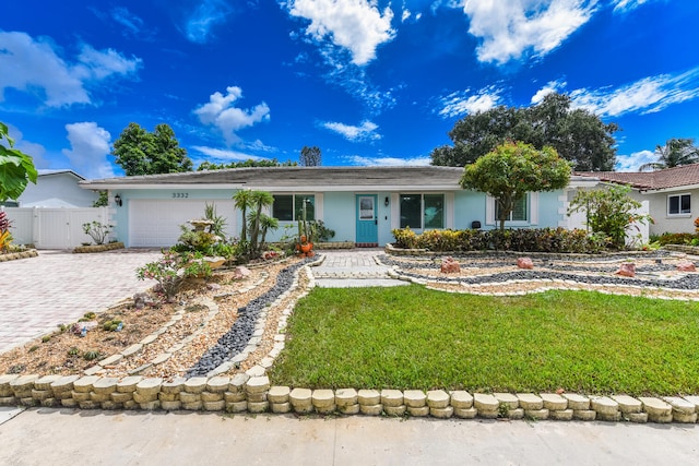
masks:
<path id="1" fill-rule="evenodd" d="M 146 175 L 81 181 L 83 188 L 139 188 L 154 186 L 233 186 L 250 188 L 313 187 L 453 187 L 460 167 L 256 167 L 182 174 Z"/>

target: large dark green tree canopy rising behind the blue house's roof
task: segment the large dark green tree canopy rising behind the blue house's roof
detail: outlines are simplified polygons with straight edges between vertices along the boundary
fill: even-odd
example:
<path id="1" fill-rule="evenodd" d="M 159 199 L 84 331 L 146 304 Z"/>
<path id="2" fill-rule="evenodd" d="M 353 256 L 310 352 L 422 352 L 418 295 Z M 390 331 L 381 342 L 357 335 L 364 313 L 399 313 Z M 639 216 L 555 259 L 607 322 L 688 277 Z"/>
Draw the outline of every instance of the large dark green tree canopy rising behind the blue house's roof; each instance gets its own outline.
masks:
<path id="1" fill-rule="evenodd" d="M 616 163 L 618 131 L 583 109 L 571 109 L 571 99 L 552 93 L 535 106 L 496 107 L 469 115 L 449 132 L 453 145 L 435 148 L 433 165 L 461 167 L 507 141 L 522 141 L 542 150 L 548 145 L 580 171 L 609 171 Z"/>

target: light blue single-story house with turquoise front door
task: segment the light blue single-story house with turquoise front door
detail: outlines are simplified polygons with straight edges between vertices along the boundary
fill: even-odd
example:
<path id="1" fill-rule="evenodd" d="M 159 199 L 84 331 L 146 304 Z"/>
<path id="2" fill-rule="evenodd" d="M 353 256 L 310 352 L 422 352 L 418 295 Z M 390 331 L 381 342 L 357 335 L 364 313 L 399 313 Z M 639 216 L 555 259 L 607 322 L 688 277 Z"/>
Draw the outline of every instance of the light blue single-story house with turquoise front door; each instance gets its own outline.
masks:
<path id="1" fill-rule="evenodd" d="M 335 230 L 333 241 L 382 246 L 394 241 L 391 230 L 496 227 L 495 200 L 461 189 L 458 167 L 273 167 L 237 168 L 81 181 L 88 190 L 108 190 L 115 236 L 128 247 L 168 247 L 179 226 L 201 218 L 206 203 L 216 206 L 237 237 L 242 218 L 232 196 L 242 189 L 269 191 L 274 204 L 266 212 L 280 220 L 268 235 L 275 241 L 296 234 L 296 219 L 307 218 Z M 529 193 L 514 210 L 508 227 L 570 227 L 569 194 L 599 180 L 572 177 L 567 190 Z M 574 225 L 579 226 L 579 225 Z"/>

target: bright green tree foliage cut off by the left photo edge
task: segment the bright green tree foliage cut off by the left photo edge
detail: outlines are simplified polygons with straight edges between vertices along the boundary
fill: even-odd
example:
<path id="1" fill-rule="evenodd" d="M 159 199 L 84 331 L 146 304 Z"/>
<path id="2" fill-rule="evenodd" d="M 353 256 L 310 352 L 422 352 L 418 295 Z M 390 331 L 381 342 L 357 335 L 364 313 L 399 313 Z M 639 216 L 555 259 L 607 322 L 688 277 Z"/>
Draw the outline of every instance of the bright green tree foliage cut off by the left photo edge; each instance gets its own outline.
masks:
<path id="1" fill-rule="evenodd" d="M 8 126 L 0 121 L 0 202 L 17 199 L 37 176 L 32 157 L 14 148 Z"/>

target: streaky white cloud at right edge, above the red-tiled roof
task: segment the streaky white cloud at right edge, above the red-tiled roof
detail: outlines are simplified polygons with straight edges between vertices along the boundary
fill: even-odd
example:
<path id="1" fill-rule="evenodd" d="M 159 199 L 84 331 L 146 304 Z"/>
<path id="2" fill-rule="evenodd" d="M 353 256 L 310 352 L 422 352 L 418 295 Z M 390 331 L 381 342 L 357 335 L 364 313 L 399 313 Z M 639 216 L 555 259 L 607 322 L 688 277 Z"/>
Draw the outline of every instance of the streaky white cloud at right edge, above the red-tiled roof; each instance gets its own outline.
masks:
<path id="1" fill-rule="evenodd" d="M 664 108 L 699 97 L 699 68 L 686 73 L 659 74 L 621 87 L 576 89 L 572 105 L 601 117 L 618 117 L 628 112 L 654 113 Z"/>

